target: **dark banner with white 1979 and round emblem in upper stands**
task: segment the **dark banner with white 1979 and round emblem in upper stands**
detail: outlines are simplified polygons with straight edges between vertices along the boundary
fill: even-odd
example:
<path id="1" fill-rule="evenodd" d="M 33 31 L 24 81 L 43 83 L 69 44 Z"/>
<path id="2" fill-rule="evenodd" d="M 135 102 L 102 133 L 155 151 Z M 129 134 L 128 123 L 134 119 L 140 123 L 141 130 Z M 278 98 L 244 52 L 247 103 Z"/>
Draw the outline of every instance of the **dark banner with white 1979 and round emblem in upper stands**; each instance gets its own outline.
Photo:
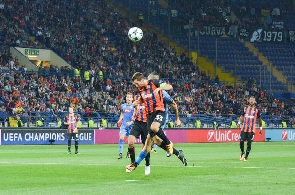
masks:
<path id="1" fill-rule="evenodd" d="M 261 43 L 284 43 L 284 32 L 283 31 L 265 31 L 262 29 L 256 29 L 253 31 L 250 42 L 261 42 Z"/>

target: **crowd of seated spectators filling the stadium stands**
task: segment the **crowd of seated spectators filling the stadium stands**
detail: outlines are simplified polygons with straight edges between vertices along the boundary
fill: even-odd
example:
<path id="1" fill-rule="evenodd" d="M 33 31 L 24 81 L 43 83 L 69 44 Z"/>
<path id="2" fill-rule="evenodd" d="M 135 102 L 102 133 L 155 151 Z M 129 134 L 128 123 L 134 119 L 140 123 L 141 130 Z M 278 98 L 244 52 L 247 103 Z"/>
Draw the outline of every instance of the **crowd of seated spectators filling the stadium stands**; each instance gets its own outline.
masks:
<path id="1" fill-rule="evenodd" d="M 156 34 L 145 32 L 140 43 L 131 43 L 126 34 L 134 24 L 102 0 L 33 2 L 7 0 L 1 10 L 0 103 L 7 115 L 26 121 L 55 119 L 72 106 L 85 120 L 93 113 L 119 116 L 125 94 L 136 93 L 132 74 L 148 76 L 153 70 L 173 85 L 170 94 L 180 114 L 240 114 L 251 95 L 265 115 L 284 118 L 295 113 L 294 107 L 259 87 L 210 78 L 184 53 L 177 56 L 175 48 L 158 41 Z M 51 48 L 72 67 L 41 66 L 38 74 L 30 72 L 10 56 L 11 45 Z M 5 114 L 0 114 L 1 121 Z"/>

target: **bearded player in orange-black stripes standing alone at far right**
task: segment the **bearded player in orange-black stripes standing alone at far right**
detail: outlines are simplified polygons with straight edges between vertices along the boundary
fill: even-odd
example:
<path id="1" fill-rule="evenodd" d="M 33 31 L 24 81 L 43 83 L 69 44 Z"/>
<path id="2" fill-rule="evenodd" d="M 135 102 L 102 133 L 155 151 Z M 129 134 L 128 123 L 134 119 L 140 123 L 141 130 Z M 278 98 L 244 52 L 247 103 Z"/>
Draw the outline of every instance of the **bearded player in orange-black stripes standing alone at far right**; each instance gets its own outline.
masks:
<path id="1" fill-rule="evenodd" d="M 254 96 L 251 96 L 249 99 L 249 106 L 245 106 L 242 111 L 242 115 L 236 125 L 236 128 L 239 128 L 241 121 L 243 121 L 243 126 L 241 129 L 241 135 L 240 135 L 240 148 L 242 151 L 242 154 L 240 156 L 240 161 L 248 161 L 248 156 L 251 150 L 251 144 L 254 139 L 255 135 L 255 124 L 256 124 L 256 119 L 258 118 L 259 122 L 259 135 L 262 134 L 262 120 L 260 116 L 260 111 L 258 108 L 256 108 L 255 103 L 256 103 L 256 98 Z M 247 141 L 247 151 L 245 155 L 244 151 L 244 142 Z"/>

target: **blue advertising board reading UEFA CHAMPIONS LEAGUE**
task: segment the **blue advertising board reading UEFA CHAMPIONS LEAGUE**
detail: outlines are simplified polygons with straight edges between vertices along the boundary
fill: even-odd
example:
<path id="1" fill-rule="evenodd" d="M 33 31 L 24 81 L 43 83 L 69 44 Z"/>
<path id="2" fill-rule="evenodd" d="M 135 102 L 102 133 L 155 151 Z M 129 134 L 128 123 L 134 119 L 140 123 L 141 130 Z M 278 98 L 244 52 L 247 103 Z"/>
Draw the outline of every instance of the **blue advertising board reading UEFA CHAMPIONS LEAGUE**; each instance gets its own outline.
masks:
<path id="1" fill-rule="evenodd" d="M 54 144 L 67 144 L 66 129 L 2 129 L 1 145 L 48 145 L 49 139 Z M 79 130 L 79 144 L 94 144 L 94 130 Z M 72 140 L 74 143 L 74 140 Z"/>

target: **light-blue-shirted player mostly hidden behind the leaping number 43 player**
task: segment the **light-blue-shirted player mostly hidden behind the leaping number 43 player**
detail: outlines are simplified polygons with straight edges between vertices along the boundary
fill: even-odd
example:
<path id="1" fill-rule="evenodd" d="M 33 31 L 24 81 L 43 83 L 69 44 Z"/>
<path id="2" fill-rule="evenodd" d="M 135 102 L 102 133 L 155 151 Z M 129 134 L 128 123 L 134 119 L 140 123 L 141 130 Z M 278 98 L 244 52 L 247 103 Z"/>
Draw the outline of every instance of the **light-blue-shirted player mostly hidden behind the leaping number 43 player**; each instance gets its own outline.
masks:
<path id="1" fill-rule="evenodd" d="M 148 79 L 159 79 L 159 75 L 158 75 L 157 72 L 154 71 L 154 72 L 152 72 L 152 73 L 150 73 L 148 75 Z M 162 125 L 160 128 L 163 130 L 165 128 L 166 124 L 168 123 L 168 120 L 169 120 L 169 117 L 168 117 L 168 112 L 169 112 L 168 105 L 171 106 L 173 108 L 173 110 L 174 110 L 175 125 L 177 127 L 180 127 L 181 126 L 181 121 L 179 119 L 178 107 L 177 107 L 176 102 L 170 97 L 170 95 L 166 91 L 162 90 L 162 93 L 163 93 L 163 97 L 164 97 L 164 99 L 163 99 L 164 107 L 165 107 L 165 110 L 166 110 L 166 121 L 165 121 L 165 124 Z M 159 137 L 155 136 L 153 138 L 153 141 L 155 143 L 155 145 L 154 145 L 155 149 L 153 151 L 156 151 L 156 147 L 158 147 L 158 146 L 160 146 L 161 148 L 164 148 L 162 140 Z M 185 166 L 187 165 L 187 161 L 184 158 L 184 154 L 183 154 L 182 150 L 176 150 L 175 148 L 173 148 L 173 154 L 175 154 Z M 169 152 L 166 152 L 166 155 L 167 155 L 167 157 L 171 156 L 171 154 Z"/>

